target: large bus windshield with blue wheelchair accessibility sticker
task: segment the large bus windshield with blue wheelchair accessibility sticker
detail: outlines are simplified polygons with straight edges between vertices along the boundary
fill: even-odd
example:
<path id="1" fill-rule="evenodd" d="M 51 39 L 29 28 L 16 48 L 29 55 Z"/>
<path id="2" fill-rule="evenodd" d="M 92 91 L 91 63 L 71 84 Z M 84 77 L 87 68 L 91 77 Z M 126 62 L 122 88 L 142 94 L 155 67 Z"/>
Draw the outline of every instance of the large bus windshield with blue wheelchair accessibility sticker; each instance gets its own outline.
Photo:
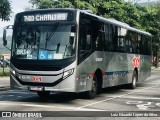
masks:
<path id="1" fill-rule="evenodd" d="M 75 25 L 22 24 L 14 30 L 12 55 L 17 59 L 59 60 L 75 55 Z"/>

